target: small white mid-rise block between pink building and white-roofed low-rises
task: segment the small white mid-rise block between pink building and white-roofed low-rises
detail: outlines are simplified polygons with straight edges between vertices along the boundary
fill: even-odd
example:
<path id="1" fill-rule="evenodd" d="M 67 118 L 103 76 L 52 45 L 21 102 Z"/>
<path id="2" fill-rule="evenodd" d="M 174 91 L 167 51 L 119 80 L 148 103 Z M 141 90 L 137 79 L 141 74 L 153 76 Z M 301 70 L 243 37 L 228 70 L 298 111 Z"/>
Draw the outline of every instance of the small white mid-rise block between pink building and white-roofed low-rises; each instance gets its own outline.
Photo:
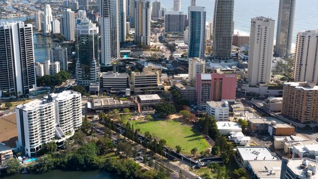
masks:
<path id="1" fill-rule="evenodd" d="M 205 112 L 207 115 L 213 115 L 216 121 L 228 121 L 228 102 L 207 101 Z"/>

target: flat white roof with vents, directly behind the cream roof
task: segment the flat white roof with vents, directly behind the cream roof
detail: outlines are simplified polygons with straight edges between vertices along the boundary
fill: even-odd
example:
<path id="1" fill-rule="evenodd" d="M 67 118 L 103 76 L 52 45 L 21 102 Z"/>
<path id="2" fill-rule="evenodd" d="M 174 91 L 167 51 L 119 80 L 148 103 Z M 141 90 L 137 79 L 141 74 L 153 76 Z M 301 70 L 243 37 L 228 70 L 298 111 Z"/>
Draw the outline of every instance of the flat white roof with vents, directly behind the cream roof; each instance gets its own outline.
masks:
<path id="1" fill-rule="evenodd" d="M 243 160 L 278 160 L 274 157 L 267 147 L 251 146 L 251 147 L 236 147 Z"/>

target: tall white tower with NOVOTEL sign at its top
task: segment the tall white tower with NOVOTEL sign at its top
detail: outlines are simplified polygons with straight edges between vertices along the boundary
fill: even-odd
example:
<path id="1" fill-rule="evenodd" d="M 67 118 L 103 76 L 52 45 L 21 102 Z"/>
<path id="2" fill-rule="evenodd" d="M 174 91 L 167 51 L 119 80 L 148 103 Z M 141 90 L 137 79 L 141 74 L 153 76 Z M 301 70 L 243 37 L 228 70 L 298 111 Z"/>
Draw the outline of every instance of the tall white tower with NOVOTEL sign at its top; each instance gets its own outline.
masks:
<path id="1" fill-rule="evenodd" d="M 251 19 L 248 80 L 252 86 L 271 82 L 274 29 L 271 18 Z"/>

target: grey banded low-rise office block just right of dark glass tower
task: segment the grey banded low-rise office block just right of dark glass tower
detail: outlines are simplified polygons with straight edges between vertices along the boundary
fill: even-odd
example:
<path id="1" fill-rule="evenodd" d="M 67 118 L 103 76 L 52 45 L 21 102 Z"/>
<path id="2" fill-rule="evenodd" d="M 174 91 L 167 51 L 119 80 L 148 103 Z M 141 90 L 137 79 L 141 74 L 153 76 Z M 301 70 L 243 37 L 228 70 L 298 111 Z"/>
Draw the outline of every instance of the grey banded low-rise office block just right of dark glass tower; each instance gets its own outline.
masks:
<path id="1" fill-rule="evenodd" d="M 114 73 L 113 71 L 101 73 L 100 90 L 110 93 L 125 92 L 129 89 L 128 73 Z"/>

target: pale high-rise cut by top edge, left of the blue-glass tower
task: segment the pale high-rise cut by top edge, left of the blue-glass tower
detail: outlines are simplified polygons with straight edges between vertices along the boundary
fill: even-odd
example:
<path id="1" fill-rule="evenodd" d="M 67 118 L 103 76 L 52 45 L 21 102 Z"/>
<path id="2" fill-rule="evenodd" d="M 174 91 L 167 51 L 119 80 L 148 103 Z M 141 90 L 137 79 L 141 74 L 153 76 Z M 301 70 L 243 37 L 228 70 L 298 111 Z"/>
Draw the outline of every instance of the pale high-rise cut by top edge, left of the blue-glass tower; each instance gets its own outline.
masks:
<path id="1" fill-rule="evenodd" d="M 135 8 L 136 44 L 149 45 L 150 20 L 151 20 L 150 0 L 136 0 L 136 8 Z"/>

